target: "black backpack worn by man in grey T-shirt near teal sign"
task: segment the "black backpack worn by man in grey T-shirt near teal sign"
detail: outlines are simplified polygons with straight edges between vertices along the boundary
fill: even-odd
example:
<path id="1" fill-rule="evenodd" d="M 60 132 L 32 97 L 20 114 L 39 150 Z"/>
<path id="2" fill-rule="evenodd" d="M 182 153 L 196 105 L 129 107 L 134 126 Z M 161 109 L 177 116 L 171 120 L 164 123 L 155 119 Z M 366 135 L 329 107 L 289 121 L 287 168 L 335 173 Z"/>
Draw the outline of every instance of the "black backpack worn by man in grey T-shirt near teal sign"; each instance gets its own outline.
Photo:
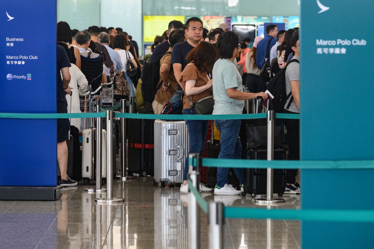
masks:
<path id="1" fill-rule="evenodd" d="M 292 92 L 289 92 L 289 94 L 286 94 L 286 68 L 289 64 L 292 62 L 300 63 L 297 59 L 292 59 L 289 61 L 285 68 L 283 68 L 281 71 L 275 74 L 272 80 L 270 80 L 269 84 L 267 85 L 267 90 L 274 96 L 272 99 L 274 111 L 276 113 L 282 113 L 283 109 L 285 108 L 284 105 L 287 102 L 287 99 L 291 97 L 289 100 L 288 106 L 286 109 L 289 108 L 289 106 L 292 103 L 292 100 L 294 99 L 292 97 Z"/>

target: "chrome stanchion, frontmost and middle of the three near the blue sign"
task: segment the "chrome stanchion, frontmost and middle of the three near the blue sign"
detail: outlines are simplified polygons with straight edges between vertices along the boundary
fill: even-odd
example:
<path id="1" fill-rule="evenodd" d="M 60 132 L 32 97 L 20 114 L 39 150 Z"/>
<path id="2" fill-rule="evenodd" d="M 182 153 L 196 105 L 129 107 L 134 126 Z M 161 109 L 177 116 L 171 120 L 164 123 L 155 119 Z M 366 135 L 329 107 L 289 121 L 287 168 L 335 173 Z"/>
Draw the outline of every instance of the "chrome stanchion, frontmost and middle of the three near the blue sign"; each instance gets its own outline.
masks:
<path id="1" fill-rule="evenodd" d="M 123 203 L 124 199 L 113 197 L 113 110 L 107 110 L 107 198 L 97 198 L 96 203 Z"/>

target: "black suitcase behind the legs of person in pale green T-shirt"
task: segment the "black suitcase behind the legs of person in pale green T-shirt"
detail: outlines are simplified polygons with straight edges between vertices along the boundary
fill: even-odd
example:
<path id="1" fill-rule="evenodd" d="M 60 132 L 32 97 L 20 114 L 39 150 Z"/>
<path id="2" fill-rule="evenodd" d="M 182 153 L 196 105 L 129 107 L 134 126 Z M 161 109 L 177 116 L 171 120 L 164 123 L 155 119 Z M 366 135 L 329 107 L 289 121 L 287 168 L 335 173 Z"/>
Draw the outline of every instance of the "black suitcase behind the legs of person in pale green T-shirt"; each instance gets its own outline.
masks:
<path id="1" fill-rule="evenodd" d="M 214 128 L 213 128 L 214 121 L 212 121 L 212 138 L 206 142 L 206 157 L 208 158 L 218 158 L 220 151 L 221 151 L 221 144 L 214 144 Z M 229 169 L 229 185 L 233 185 L 235 187 L 240 186 L 240 182 L 237 179 L 235 172 L 232 168 Z M 214 188 L 215 184 L 217 183 L 217 168 L 216 167 L 208 167 L 206 170 L 206 186 L 209 188 Z"/>

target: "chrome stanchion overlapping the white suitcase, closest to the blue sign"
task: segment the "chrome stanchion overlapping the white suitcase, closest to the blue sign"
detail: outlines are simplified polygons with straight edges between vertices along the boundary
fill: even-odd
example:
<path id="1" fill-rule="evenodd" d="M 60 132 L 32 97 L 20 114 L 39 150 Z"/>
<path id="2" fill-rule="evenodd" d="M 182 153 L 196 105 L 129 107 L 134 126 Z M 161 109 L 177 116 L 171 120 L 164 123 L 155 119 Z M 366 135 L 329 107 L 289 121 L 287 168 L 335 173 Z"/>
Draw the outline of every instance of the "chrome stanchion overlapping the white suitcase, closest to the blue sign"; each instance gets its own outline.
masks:
<path id="1" fill-rule="evenodd" d="M 100 112 L 100 105 L 96 105 L 96 112 Z M 94 129 L 92 129 L 93 131 Z M 85 191 L 89 193 L 103 193 L 106 188 L 102 188 L 102 118 L 96 118 L 96 188 L 86 188 Z M 93 141 L 92 141 L 93 142 Z"/>

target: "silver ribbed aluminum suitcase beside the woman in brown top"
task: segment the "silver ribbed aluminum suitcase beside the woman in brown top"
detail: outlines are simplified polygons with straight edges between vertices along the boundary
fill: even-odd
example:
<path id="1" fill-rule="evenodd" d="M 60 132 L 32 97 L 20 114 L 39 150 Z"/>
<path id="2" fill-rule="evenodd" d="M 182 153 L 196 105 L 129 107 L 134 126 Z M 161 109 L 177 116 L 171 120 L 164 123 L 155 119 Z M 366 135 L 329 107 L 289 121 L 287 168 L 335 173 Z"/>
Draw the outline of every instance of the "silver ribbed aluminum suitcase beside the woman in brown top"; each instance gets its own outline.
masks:
<path id="1" fill-rule="evenodd" d="M 154 180 L 160 187 L 182 183 L 188 148 L 186 122 L 154 121 Z"/>

